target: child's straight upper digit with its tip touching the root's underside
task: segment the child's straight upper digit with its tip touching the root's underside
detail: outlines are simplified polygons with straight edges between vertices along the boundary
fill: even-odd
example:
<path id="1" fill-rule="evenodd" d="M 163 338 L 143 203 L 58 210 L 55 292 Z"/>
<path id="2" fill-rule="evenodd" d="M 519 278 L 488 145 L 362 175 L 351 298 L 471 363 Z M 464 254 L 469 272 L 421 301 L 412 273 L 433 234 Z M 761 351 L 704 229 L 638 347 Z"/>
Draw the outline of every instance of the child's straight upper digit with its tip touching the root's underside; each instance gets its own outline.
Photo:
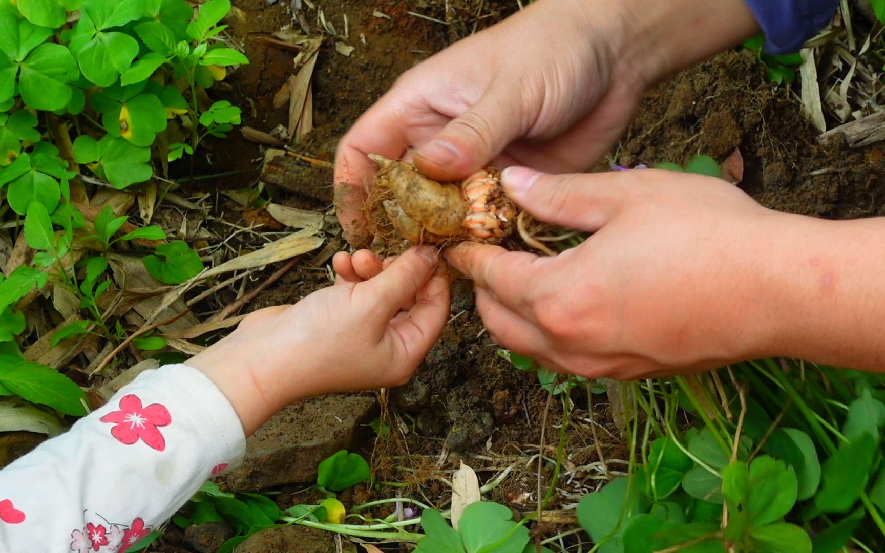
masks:
<path id="1" fill-rule="evenodd" d="M 372 298 L 377 316 L 389 320 L 402 305 L 412 301 L 418 291 L 439 265 L 434 248 L 419 246 L 396 257 L 390 266 L 372 280 L 362 283 L 362 289 Z"/>

